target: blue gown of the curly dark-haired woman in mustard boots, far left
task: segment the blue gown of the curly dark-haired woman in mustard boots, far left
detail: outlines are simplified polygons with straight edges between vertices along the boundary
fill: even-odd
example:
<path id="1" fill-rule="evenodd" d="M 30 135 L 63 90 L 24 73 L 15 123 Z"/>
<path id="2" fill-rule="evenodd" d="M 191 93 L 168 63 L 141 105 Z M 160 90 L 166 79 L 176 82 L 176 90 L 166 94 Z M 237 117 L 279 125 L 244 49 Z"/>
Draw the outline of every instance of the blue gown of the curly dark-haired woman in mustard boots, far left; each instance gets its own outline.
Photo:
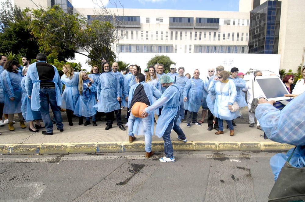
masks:
<path id="1" fill-rule="evenodd" d="M 4 109 L 5 114 L 21 113 L 21 71 L 17 70 L 17 73 L 4 70 L 1 73 L 1 85 L 4 91 Z M 9 98 L 15 98 L 14 101 L 10 101 Z"/>

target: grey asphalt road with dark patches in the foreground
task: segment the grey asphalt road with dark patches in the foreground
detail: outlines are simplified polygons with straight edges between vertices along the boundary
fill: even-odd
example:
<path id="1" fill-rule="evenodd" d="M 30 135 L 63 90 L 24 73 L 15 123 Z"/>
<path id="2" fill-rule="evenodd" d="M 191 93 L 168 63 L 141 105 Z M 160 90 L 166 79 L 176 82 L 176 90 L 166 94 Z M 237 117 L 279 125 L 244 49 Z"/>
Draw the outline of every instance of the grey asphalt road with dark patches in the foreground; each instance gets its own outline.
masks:
<path id="1" fill-rule="evenodd" d="M 175 163 L 141 153 L 0 156 L 0 202 L 267 201 L 267 152 L 175 152 Z"/>

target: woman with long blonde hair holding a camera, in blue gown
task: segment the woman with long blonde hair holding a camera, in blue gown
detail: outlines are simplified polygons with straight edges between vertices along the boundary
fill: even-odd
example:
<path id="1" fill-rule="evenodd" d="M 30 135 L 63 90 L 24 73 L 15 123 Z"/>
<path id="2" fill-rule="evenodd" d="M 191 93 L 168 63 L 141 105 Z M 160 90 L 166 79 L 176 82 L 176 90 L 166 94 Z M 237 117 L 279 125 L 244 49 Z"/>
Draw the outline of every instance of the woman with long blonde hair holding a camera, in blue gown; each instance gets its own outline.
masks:
<path id="1" fill-rule="evenodd" d="M 92 117 L 93 126 L 96 126 L 96 108 L 93 107 L 96 104 L 96 91 L 96 85 L 89 80 L 85 71 L 81 71 L 78 76 L 78 92 L 80 96 L 74 107 L 74 115 L 80 117 L 81 121 L 83 121 L 83 117 L 86 117 L 84 126 L 90 124 L 90 117 Z"/>

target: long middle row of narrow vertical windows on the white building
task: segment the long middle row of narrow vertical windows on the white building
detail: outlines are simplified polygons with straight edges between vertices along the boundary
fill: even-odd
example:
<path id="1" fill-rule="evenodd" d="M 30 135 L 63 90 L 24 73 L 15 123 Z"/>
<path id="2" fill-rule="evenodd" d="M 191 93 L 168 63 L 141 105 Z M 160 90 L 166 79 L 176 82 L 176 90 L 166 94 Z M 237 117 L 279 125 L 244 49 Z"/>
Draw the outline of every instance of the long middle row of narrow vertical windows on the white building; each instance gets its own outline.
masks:
<path id="1" fill-rule="evenodd" d="M 126 30 L 125 34 L 124 31 L 121 30 L 121 38 L 131 39 L 131 40 L 144 40 L 144 31 L 141 32 L 141 38 L 139 37 L 139 31 L 129 31 Z M 130 34 L 129 34 L 130 33 Z M 163 31 L 145 31 L 145 39 L 146 40 L 169 40 L 168 38 L 169 32 L 163 32 Z M 118 30 L 117 30 L 118 34 Z M 159 37 L 160 34 L 160 37 Z M 164 36 L 165 34 L 165 36 Z M 218 34 L 218 37 L 216 37 Z M 149 38 L 150 36 L 150 38 Z M 222 36 L 222 37 L 221 37 Z M 231 40 L 231 41 L 248 41 L 249 33 L 239 33 L 237 32 L 236 35 L 234 32 L 183 32 L 183 31 L 171 31 L 170 32 L 170 40 L 213 40 L 213 41 L 220 41 L 220 40 Z"/>

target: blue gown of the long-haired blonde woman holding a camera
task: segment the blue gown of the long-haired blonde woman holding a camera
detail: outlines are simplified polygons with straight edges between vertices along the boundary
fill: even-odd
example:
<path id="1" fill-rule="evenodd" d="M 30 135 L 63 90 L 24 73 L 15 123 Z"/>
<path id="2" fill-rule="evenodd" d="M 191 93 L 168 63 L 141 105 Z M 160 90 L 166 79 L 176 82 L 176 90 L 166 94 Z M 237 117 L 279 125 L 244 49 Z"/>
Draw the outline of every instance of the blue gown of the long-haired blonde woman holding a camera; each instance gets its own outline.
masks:
<path id="1" fill-rule="evenodd" d="M 83 92 L 78 97 L 74 107 L 74 115 L 78 117 L 92 117 L 96 114 L 96 108 L 93 107 L 96 104 L 95 92 L 97 87 L 94 83 L 88 87 L 89 79 L 83 81 Z"/>

